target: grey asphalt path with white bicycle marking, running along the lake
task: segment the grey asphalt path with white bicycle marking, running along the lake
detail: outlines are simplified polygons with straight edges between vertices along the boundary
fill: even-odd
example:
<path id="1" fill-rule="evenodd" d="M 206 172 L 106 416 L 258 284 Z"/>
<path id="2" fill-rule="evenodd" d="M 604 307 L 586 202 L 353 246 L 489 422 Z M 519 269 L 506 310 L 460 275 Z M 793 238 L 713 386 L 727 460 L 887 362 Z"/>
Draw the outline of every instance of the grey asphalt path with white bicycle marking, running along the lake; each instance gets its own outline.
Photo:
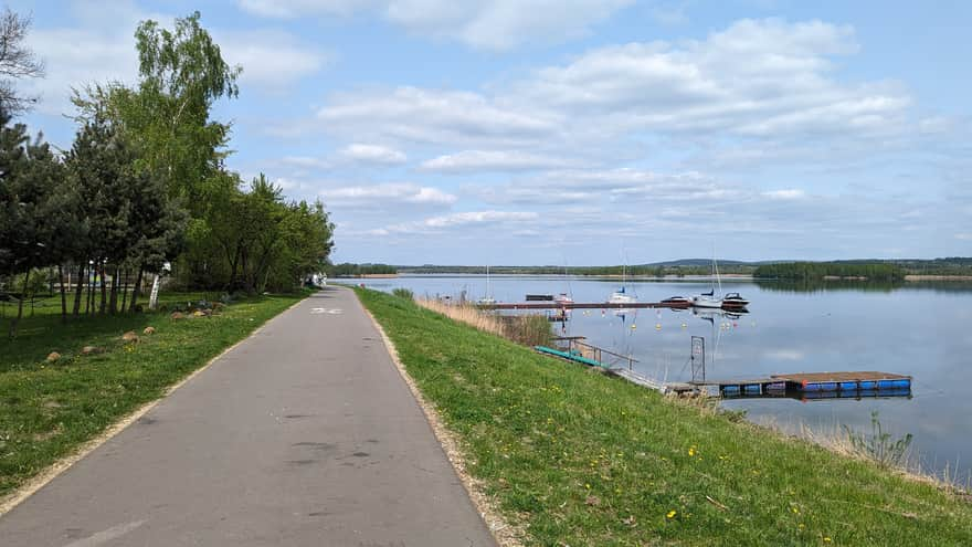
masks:
<path id="1" fill-rule="evenodd" d="M 3 547 L 189 545 L 495 543 L 361 304 L 329 287 L 0 517 Z"/>

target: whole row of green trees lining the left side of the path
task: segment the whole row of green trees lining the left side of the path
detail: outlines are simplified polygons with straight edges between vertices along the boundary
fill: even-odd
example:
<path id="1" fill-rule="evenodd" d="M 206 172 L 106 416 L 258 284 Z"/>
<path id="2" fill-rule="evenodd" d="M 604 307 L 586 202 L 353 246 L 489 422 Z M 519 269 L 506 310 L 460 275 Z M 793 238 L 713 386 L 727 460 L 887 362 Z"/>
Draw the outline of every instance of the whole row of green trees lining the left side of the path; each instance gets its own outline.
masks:
<path id="1" fill-rule="evenodd" d="M 22 40 L 30 21 L 13 20 Z M 292 290 L 327 263 L 324 203 L 225 168 L 231 126 L 211 109 L 239 95 L 242 69 L 223 60 L 199 12 L 172 30 L 142 21 L 135 39 L 138 82 L 74 90 L 78 129 L 64 152 L 13 122 L 30 101 L 0 83 L 0 296 L 19 302 L 11 335 L 45 283 L 60 287 L 66 320 L 136 311 L 147 277 L 163 270 L 175 286 L 262 293 Z"/>

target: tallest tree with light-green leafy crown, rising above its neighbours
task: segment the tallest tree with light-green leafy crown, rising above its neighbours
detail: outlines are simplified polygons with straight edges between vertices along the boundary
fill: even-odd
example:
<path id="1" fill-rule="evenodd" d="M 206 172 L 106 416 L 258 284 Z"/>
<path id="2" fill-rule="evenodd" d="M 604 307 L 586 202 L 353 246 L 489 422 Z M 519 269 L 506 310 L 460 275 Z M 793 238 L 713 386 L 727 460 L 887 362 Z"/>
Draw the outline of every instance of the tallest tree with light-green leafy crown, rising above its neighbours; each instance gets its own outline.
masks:
<path id="1" fill-rule="evenodd" d="M 138 148 L 138 166 L 165 180 L 194 219 L 204 219 L 228 150 L 230 125 L 210 119 L 214 101 L 239 94 L 242 69 L 230 66 L 200 24 L 176 19 L 175 30 L 142 21 L 135 32 L 139 82 L 94 85 L 75 93 L 80 117 L 106 116 Z"/>

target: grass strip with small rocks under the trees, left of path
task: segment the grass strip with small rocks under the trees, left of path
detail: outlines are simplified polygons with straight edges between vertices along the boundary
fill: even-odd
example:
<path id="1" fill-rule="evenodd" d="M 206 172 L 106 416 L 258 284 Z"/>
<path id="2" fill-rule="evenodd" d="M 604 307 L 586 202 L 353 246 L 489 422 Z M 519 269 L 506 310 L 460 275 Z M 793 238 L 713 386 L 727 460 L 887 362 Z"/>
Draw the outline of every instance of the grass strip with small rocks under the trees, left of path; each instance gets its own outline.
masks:
<path id="1" fill-rule="evenodd" d="M 200 296 L 160 301 L 184 306 Z M 145 313 L 61 324 L 60 308 L 24 317 L 17 338 L 0 338 L 0 501 L 304 296 L 262 296 L 178 320 Z M 147 326 L 156 333 L 142 335 Z M 122 341 L 127 330 L 137 344 Z M 103 353 L 82 355 L 84 346 Z M 61 359 L 46 362 L 51 351 Z"/>

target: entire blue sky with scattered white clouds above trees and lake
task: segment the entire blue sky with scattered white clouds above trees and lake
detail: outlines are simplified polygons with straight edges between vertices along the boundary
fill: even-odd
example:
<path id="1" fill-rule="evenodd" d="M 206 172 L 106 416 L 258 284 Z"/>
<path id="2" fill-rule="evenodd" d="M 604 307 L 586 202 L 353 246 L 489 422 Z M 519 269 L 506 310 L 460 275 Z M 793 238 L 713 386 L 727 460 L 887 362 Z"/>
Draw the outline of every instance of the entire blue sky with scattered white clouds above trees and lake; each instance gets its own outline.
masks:
<path id="1" fill-rule="evenodd" d="M 226 165 L 320 199 L 336 262 L 972 255 L 972 2 L 10 1 L 72 86 L 194 10 L 240 64 Z"/>

